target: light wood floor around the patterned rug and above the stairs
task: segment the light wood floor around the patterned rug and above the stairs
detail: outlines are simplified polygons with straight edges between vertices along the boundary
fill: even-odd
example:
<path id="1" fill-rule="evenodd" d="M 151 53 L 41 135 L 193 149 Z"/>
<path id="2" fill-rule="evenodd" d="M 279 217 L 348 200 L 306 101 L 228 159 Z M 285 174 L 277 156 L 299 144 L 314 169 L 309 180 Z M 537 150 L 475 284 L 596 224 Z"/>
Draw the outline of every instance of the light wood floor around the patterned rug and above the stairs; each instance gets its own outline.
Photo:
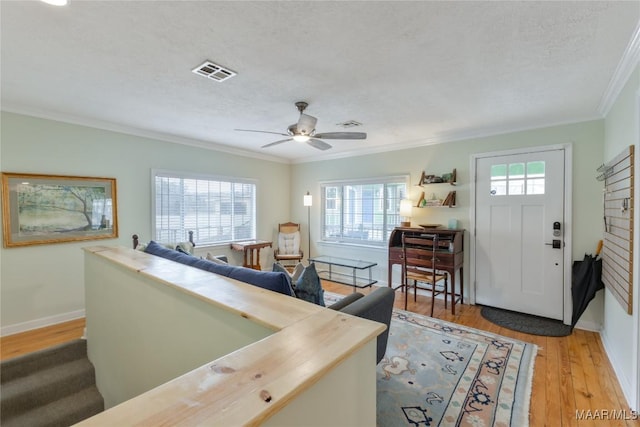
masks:
<path id="1" fill-rule="evenodd" d="M 323 287 L 329 292 L 351 293 L 350 287 L 340 284 L 323 282 Z M 400 292 L 395 305 L 403 308 L 404 297 Z M 430 299 L 418 295 L 418 301 L 414 303 L 409 298 L 408 310 L 428 315 Z M 562 338 L 523 334 L 485 320 L 477 306 L 458 305 L 456 315 L 452 316 L 450 311 L 444 310 L 442 301 L 436 301 L 434 317 L 538 345 L 531 395 L 531 427 L 640 426 L 638 420 L 603 416 L 604 411 L 626 410 L 627 418 L 632 414 L 597 333 L 576 329 Z M 79 338 L 84 326 L 84 319 L 78 319 L 0 338 L 0 360 Z M 578 420 L 577 411 L 591 411 L 592 419 Z"/>

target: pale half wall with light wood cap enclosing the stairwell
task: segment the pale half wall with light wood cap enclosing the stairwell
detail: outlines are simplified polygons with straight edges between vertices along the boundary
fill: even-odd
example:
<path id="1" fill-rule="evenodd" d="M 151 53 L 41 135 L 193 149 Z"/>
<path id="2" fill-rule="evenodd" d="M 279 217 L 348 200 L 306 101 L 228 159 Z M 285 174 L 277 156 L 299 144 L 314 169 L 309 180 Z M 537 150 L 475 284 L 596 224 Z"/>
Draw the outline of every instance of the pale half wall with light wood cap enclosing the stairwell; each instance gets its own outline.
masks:
<path id="1" fill-rule="evenodd" d="M 375 425 L 381 323 L 127 248 L 85 248 L 85 286 L 107 410 L 78 426 Z"/>

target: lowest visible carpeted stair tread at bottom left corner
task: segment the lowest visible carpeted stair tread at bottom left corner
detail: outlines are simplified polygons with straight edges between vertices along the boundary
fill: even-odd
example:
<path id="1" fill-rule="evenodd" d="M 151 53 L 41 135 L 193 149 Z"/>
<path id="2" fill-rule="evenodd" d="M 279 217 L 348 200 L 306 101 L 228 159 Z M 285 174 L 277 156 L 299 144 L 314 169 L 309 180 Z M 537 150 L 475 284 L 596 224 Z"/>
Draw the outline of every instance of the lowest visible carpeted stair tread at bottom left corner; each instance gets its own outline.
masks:
<path id="1" fill-rule="evenodd" d="M 104 410 L 104 400 L 95 386 L 65 396 L 29 412 L 2 419 L 2 427 L 66 427 Z"/>

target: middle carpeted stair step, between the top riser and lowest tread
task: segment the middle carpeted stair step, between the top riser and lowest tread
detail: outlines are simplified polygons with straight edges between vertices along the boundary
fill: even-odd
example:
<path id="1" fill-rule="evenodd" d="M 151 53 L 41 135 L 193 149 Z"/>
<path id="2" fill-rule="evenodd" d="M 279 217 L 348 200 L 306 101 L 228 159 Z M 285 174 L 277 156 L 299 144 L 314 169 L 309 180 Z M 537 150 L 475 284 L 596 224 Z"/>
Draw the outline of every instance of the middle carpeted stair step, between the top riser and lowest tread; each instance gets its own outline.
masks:
<path id="1" fill-rule="evenodd" d="M 95 385 L 95 371 L 89 359 L 78 359 L 22 376 L 2 384 L 0 421 L 31 411 L 38 406 L 75 394 Z"/>

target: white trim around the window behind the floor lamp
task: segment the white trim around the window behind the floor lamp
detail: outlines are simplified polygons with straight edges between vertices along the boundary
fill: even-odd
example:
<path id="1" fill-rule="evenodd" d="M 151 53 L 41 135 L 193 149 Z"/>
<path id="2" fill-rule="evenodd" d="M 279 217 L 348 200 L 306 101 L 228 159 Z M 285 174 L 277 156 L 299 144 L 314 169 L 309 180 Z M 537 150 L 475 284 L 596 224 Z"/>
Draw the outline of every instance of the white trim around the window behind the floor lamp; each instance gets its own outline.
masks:
<path id="1" fill-rule="evenodd" d="M 319 243 L 321 244 L 344 244 L 344 245 L 353 245 L 367 248 L 382 248 L 385 247 L 387 242 L 376 242 L 369 240 L 350 240 L 350 239 L 328 239 L 324 237 L 324 228 L 325 228 L 325 219 L 326 219 L 326 211 L 325 211 L 325 192 L 324 188 L 328 186 L 345 186 L 345 185 L 367 185 L 367 184 L 397 184 L 400 182 L 404 182 L 406 189 L 406 198 L 410 198 L 411 194 L 411 174 L 402 174 L 402 175 L 387 175 L 380 177 L 368 177 L 368 178 L 354 178 L 354 179 L 335 179 L 335 180 L 324 180 L 319 181 L 319 193 L 320 193 L 320 232 L 319 232 Z M 398 201 L 400 202 L 400 201 Z M 341 212 L 343 215 L 343 212 Z M 387 216 L 385 214 L 385 223 L 388 224 Z M 398 224 L 399 226 L 399 224 Z M 394 226 L 395 228 L 396 226 Z M 387 229 L 385 229 L 385 232 Z M 389 230 L 391 231 L 391 230 Z"/>

